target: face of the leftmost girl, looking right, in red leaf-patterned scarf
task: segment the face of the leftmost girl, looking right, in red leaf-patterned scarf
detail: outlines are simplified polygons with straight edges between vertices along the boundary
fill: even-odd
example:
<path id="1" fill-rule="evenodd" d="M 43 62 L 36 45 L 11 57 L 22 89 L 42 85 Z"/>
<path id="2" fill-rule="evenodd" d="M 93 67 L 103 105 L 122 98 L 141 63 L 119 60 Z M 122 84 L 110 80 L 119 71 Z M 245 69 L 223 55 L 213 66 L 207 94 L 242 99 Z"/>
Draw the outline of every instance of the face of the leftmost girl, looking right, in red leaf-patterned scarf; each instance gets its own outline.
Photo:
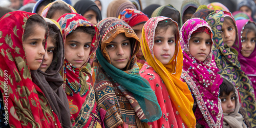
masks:
<path id="1" fill-rule="evenodd" d="M 35 25 L 30 36 L 23 41 L 27 63 L 30 70 L 37 70 L 45 55 L 45 28 Z"/>

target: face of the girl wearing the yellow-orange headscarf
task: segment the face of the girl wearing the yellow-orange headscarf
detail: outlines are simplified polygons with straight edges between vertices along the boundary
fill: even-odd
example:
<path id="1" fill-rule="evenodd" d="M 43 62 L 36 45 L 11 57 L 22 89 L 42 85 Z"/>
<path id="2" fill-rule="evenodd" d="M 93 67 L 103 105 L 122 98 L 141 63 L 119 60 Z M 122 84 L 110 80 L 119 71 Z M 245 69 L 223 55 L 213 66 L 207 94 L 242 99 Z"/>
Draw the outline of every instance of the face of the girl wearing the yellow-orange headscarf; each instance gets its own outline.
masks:
<path id="1" fill-rule="evenodd" d="M 166 65 L 174 56 L 175 36 L 173 27 L 160 28 L 155 34 L 153 51 L 155 57 Z"/>

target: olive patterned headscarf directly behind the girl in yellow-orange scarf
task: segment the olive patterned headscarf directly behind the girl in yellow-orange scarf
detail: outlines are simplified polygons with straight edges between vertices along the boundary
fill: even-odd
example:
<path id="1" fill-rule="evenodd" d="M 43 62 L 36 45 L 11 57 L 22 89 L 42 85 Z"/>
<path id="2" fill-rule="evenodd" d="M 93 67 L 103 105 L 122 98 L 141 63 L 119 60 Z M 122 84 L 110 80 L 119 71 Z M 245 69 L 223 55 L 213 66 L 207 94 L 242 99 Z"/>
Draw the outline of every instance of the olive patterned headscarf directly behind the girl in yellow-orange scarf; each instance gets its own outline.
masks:
<path id="1" fill-rule="evenodd" d="M 175 20 L 175 22 L 178 23 L 179 27 L 182 26 L 182 20 L 180 20 L 180 12 L 170 4 L 158 7 L 151 15 L 151 17 L 157 16 L 166 16 L 172 18 L 173 20 Z"/>

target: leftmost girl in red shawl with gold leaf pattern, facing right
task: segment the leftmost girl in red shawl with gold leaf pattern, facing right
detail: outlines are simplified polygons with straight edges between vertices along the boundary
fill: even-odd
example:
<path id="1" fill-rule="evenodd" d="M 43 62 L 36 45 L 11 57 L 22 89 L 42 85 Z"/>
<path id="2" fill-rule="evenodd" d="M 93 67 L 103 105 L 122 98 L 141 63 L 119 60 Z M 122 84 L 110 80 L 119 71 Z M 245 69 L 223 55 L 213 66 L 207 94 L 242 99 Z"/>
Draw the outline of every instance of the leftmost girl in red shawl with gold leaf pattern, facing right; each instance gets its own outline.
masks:
<path id="1" fill-rule="evenodd" d="M 44 18 L 34 13 L 14 11 L 3 16 L 0 24 L 0 81 L 6 108 L 5 125 L 61 127 L 30 73 L 40 67 L 45 54 L 47 25 Z"/>

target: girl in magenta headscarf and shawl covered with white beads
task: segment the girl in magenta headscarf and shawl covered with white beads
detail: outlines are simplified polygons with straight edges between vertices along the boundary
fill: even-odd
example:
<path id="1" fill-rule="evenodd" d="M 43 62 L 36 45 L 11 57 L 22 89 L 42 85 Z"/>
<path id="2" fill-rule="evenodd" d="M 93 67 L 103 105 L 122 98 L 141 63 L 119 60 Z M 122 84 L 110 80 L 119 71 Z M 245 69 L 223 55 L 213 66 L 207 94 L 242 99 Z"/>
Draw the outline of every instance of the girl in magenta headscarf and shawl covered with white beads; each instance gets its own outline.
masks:
<path id="1" fill-rule="evenodd" d="M 187 83 L 195 99 L 193 111 L 197 127 L 222 125 L 219 99 L 222 77 L 218 74 L 219 69 L 212 57 L 212 35 L 210 26 L 201 18 L 187 20 L 180 30 L 184 57 L 181 78 Z"/>

